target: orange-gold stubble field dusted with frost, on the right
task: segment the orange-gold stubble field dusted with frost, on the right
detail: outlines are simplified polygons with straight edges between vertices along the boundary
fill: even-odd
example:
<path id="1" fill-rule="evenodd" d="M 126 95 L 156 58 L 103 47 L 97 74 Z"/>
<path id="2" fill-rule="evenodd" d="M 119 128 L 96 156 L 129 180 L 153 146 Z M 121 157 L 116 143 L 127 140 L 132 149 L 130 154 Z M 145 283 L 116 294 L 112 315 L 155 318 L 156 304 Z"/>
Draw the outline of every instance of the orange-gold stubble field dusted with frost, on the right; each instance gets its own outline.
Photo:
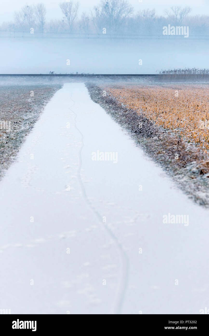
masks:
<path id="1" fill-rule="evenodd" d="M 203 150 L 209 149 L 207 85 L 119 86 L 106 87 L 105 90 L 129 109 L 138 113 L 142 111 L 156 125 Z"/>

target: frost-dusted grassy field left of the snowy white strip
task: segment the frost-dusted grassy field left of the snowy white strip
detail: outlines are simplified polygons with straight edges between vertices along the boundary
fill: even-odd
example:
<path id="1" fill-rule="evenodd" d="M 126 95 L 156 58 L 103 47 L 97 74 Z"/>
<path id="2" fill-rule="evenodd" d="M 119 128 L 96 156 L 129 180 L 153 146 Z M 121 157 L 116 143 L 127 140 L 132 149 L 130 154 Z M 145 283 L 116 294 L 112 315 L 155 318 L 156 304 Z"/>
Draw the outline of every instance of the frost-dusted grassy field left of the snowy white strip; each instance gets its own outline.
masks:
<path id="1" fill-rule="evenodd" d="M 61 87 L 60 84 L 0 86 L 0 177 L 14 160 L 46 103 Z"/>

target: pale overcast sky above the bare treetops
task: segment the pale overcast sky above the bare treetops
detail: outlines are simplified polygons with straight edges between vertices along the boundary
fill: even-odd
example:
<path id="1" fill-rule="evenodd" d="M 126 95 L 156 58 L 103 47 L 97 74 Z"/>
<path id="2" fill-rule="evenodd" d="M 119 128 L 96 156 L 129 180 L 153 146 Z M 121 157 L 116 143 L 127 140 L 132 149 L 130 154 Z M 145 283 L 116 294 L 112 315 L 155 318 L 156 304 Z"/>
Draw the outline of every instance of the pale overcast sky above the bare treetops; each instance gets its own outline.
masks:
<path id="1" fill-rule="evenodd" d="M 3 21 L 12 21 L 14 12 L 21 9 L 24 5 L 32 5 L 42 2 L 47 8 L 47 19 L 59 19 L 62 18 L 62 13 L 59 8 L 61 0 L 1 0 L 0 3 L 0 24 Z M 89 12 L 94 5 L 99 3 L 99 0 L 80 0 L 79 14 L 83 11 Z M 141 9 L 153 9 L 155 8 L 157 14 L 163 14 L 164 9 L 171 6 L 190 6 L 192 8 L 191 15 L 207 14 L 209 15 L 209 0 L 129 0 L 134 10 L 137 12 Z"/>

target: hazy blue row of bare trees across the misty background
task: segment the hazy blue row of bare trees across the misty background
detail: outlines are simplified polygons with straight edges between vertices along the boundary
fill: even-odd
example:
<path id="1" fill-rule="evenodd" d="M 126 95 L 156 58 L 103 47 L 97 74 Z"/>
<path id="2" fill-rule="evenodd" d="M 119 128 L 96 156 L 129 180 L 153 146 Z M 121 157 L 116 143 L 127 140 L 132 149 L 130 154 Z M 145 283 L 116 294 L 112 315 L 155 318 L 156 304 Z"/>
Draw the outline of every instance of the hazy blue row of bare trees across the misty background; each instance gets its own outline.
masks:
<path id="1" fill-rule="evenodd" d="M 12 23 L 4 23 L 2 28 L 10 30 L 26 30 L 36 28 L 39 31 L 50 32 L 97 32 L 102 33 L 135 33 L 149 34 L 161 33 L 162 27 L 167 23 L 181 25 L 186 22 L 188 26 L 197 28 L 197 32 L 206 32 L 209 29 L 207 16 L 188 16 L 190 7 L 181 8 L 173 6 L 165 10 L 165 16 L 157 16 L 155 10 L 143 10 L 134 14 L 133 7 L 127 0 L 100 0 L 89 14 L 82 13 L 78 18 L 79 2 L 71 0 L 59 4 L 63 14 L 62 19 L 46 22 L 46 8 L 43 3 L 34 6 L 24 6 L 15 13 Z"/>

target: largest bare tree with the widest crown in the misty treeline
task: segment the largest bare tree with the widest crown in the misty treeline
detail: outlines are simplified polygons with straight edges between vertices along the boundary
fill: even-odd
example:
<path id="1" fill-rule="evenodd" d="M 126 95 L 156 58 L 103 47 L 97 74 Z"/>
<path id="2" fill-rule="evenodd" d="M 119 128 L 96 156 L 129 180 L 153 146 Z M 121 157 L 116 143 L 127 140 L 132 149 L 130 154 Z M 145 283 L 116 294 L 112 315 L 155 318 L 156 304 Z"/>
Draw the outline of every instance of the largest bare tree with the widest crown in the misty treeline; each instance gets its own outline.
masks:
<path id="1" fill-rule="evenodd" d="M 99 30 L 108 28 L 111 32 L 116 33 L 123 27 L 126 18 L 132 12 L 133 7 L 127 0 L 101 0 L 98 6 L 94 6 L 92 19 L 94 26 Z"/>

